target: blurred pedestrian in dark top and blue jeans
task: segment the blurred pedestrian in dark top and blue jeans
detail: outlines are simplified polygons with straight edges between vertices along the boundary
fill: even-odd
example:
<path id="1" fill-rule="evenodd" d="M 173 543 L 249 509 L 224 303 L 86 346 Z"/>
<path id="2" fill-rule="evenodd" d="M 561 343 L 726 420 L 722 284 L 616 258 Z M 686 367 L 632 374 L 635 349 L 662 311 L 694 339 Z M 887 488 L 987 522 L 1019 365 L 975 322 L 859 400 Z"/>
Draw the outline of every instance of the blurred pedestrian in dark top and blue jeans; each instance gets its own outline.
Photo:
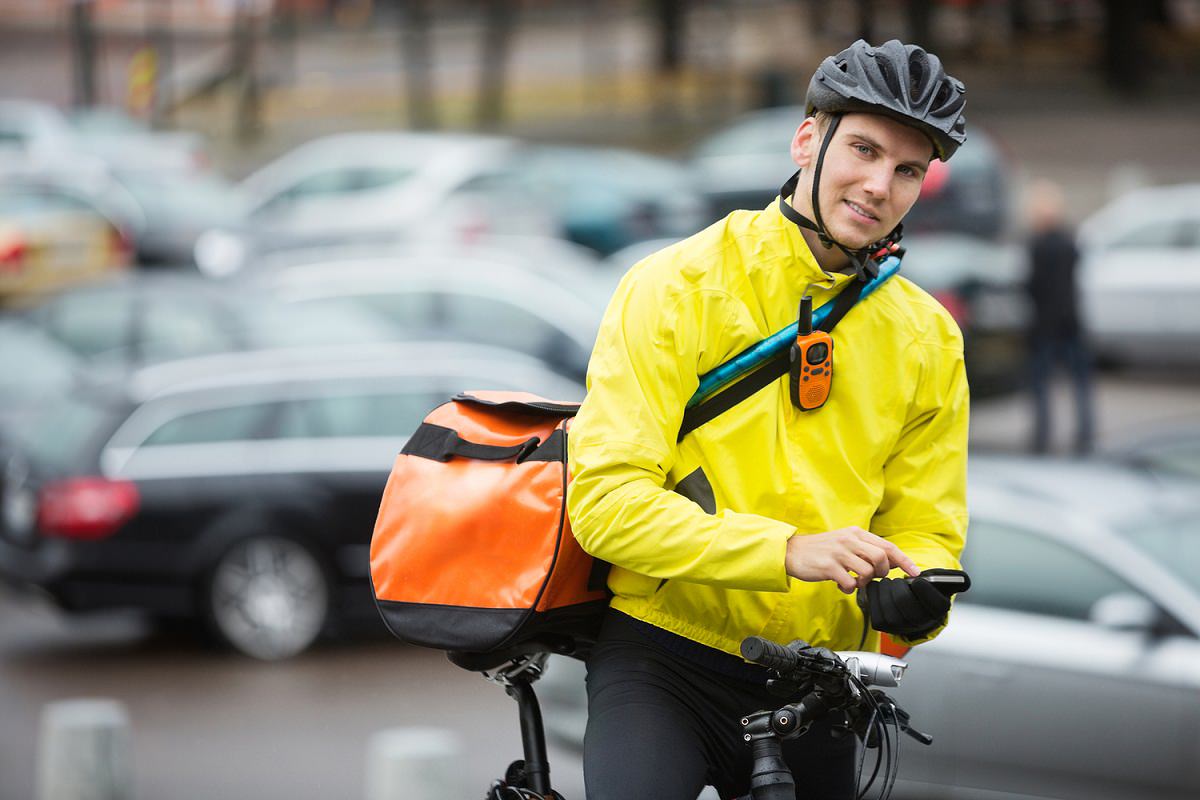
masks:
<path id="1" fill-rule="evenodd" d="M 1033 320 L 1030 327 L 1030 383 L 1033 391 L 1033 451 L 1049 452 L 1052 432 L 1050 381 L 1066 368 L 1075 396 L 1074 450 L 1092 449 L 1092 365 L 1079 313 L 1075 269 L 1079 248 L 1064 219 L 1062 188 L 1046 180 L 1028 192 L 1030 279 Z"/>

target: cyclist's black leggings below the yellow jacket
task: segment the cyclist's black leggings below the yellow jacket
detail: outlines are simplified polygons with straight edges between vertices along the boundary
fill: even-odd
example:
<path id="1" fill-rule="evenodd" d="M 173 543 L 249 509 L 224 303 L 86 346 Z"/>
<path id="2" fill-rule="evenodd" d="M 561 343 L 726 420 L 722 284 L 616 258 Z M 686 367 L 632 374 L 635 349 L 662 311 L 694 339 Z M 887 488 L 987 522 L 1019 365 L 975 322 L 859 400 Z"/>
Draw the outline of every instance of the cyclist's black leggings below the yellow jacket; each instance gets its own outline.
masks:
<path id="1" fill-rule="evenodd" d="M 648 639 L 611 612 L 588 660 L 583 778 L 588 800 L 696 800 L 750 792 L 744 715 L 776 708 L 766 687 L 727 678 Z M 784 742 L 800 800 L 853 800 L 857 745 L 827 726 Z"/>

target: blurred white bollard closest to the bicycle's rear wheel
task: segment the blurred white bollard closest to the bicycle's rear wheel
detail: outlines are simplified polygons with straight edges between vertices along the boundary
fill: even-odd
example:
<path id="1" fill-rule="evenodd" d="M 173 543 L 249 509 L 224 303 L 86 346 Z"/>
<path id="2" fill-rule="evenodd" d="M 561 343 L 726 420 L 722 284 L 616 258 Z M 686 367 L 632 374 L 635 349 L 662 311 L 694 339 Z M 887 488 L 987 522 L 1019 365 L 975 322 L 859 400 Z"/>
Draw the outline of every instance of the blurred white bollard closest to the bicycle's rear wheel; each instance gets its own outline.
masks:
<path id="1" fill-rule="evenodd" d="M 466 751 L 450 730 L 380 730 L 367 744 L 366 800 L 458 800 L 464 764 Z"/>

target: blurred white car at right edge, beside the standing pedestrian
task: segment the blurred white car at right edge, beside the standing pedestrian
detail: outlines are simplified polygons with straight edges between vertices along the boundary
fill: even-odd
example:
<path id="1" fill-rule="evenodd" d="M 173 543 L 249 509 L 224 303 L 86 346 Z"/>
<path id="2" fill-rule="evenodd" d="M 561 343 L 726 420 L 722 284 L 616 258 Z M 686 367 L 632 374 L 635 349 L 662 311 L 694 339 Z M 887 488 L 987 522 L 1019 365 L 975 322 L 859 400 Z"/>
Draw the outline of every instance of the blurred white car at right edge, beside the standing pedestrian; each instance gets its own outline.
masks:
<path id="1" fill-rule="evenodd" d="M 1079 229 L 1079 291 L 1098 354 L 1200 365 L 1200 184 L 1130 192 Z"/>

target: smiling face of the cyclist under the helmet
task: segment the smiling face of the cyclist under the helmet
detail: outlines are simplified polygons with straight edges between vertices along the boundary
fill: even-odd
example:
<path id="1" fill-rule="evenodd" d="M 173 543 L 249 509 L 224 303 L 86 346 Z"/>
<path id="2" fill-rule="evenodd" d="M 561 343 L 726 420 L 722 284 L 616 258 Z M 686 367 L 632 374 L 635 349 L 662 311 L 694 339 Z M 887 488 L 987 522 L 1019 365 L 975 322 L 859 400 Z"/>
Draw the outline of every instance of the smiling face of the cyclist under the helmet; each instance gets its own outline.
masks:
<path id="1" fill-rule="evenodd" d="M 792 160 L 803 169 L 792 205 L 812 216 L 812 167 L 821 151 L 816 120 L 792 138 Z M 846 114 L 821 167 L 818 199 L 829 235 L 857 249 L 892 233 L 917 201 L 932 157 L 923 133 L 877 114 Z"/>

